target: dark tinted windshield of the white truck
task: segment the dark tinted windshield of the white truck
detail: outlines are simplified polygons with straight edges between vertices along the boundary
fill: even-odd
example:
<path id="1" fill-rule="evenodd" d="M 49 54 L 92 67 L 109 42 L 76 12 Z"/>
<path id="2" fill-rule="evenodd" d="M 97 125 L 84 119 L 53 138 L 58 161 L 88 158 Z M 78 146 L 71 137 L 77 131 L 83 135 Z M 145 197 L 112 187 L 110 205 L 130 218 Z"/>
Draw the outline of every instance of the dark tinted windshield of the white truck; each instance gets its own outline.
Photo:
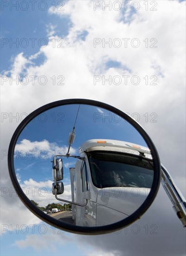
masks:
<path id="1" fill-rule="evenodd" d="M 152 187 L 154 168 L 148 159 L 110 151 L 93 151 L 87 155 L 92 182 L 97 188 Z"/>

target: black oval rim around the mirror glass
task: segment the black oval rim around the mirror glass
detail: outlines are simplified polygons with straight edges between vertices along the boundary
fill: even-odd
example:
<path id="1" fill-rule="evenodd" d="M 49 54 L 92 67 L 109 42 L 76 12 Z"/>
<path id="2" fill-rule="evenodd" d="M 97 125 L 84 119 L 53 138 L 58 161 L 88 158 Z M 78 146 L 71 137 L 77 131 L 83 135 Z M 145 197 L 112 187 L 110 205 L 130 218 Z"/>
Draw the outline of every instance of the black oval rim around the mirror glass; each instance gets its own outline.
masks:
<path id="1" fill-rule="evenodd" d="M 80 227 L 80 226 L 75 226 L 69 223 L 58 221 L 46 215 L 44 212 L 38 209 L 37 206 L 32 204 L 32 202 L 27 198 L 27 196 L 24 194 L 24 192 L 22 191 L 19 185 L 19 182 L 15 175 L 13 155 L 14 155 L 14 148 L 20 133 L 26 127 L 26 125 L 37 115 L 51 108 L 55 108 L 63 105 L 69 105 L 69 104 L 86 104 L 86 105 L 91 105 L 95 107 L 105 108 L 109 111 L 112 111 L 114 114 L 119 115 L 120 117 L 127 120 L 134 128 L 136 128 L 136 130 L 141 134 L 143 139 L 146 141 L 148 148 L 150 148 L 151 150 L 151 153 L 153 156 L 153 162 L 154 162 L 154 179 L 153 179 L 152 188 L 147 196 L 147 199 L 143 202 L 141 207 L 138 208 L 132 215 L 128 216 L 126 219 L 122 221 L 116 222 L 114 224 L 109 224 L 106 226 L 99 226 L 99 227 L 97 226 L 96 227 Z M 148 208 L 154 201 L 160 186 L 160 177 L 161 177 L 161 166 L 160 166 L 160 158 L 159 158 L 158 152 L 154 146 L 153 141 L 150 139 L 150 137 L 148 136 L 146 131 L 141 127 L 141 125 L 138 124 L 129 115 L 123 113 L 121 110 L 117 108 L 114 108 L 103 102 L 93 101 L 88 99 L 66 99 L 66 100 L 54 101 L 36 109 L 30 115 L 26 116 L 26 118 L 19 124 L 18 128 L 15 130 L 13 137 L 10 141 L 10 145 L 8 149 L 8 169 L 9 169 L 11 180 L 13 182 L 13 186 L 17 194 L 19 195 L 19 198 L 33 214 L 35 214 L 42 221 L 48 223 L 49 225 L 57 229 L 62 229 L 67 232 L 81 234 L 81 235 L 101 235 L 101 234 L 110 233 L 115 230 L 119 230 L 124 227 L 127 227 L 131 223 L 135 222 L 137 219 L 140 219 L 140 217 L 148 210 Z"/>

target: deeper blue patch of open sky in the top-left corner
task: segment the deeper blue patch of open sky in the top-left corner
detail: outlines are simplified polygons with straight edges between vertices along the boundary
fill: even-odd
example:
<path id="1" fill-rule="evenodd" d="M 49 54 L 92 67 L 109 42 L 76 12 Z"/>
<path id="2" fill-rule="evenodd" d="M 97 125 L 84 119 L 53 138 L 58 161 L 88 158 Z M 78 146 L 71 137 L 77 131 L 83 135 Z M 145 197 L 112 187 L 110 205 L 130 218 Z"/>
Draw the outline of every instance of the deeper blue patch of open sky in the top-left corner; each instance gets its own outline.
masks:
<path id="1" fill-rule="evenodd" d="M 54 4 L 54 2 L 56 4 Z M 64 38 L 68 34 L 71 22 L 68 17 L 59 17 L 48 12 L 49 8 L 64 9 L 65 1 L 1 1 L 1 62 L 0 72 L 10 70 L 15 56 L 21 52 L 25 56 L 36 54 L 40 47 L 45 47 L 49 39 L 47 29 L 54 26 L 58 36 Z M 63 10 L 61 10 L 63 12 Z M 62 26 L 61 26 L 62 24 Z M 16 43 L 13 43 L 16 42 Z M 36 64 L 45 61 L 39 56 Z"/>

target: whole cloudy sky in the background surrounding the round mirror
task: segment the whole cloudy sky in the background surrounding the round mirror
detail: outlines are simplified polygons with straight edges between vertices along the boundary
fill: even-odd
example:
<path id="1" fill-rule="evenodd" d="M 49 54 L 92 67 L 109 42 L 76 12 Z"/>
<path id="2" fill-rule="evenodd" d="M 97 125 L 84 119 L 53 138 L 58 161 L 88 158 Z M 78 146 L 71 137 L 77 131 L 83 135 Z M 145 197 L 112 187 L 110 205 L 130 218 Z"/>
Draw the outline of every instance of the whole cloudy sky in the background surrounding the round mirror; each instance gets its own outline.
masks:
<path id="1" fill-rule="evenodd" d="M 185 255 L 186 231 L 162 186 L 148 211 L 127 228 L 80 236 L 54 229 L 26 209 L 7 167 L 10 140 L 26 115 L 53 101 L 91 99 L 141 124 L 186 196 L 185 5 L 179 0 L 0 2 L 2 256 Z M 29 140 L 44 141 L 49 150 L 62 147 L 51 138 L 46 142 L 33 131 Z M 17 175 L 27 181 L 20 170 Z"/>

